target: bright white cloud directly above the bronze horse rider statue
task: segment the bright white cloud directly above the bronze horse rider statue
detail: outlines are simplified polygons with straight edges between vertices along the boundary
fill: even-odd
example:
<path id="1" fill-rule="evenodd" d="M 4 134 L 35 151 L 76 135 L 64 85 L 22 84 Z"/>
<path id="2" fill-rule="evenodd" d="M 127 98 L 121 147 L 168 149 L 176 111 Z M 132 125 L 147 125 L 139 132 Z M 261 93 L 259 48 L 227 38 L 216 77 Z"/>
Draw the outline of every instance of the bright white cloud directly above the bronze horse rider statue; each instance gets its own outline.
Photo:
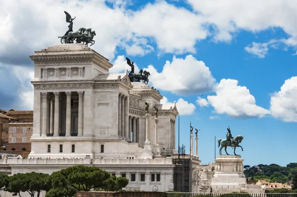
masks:
<path id="1" fill-rule="evenodd" d="M 256 105 L 255 98 L 245 86 L 238 86 L 234 79 L 222 79 L 217 85 L 216 96 L 207 96 L 208 102 L 218 114 L 226 113 L 233 117 L 263 117 L 269 110 Z"/>

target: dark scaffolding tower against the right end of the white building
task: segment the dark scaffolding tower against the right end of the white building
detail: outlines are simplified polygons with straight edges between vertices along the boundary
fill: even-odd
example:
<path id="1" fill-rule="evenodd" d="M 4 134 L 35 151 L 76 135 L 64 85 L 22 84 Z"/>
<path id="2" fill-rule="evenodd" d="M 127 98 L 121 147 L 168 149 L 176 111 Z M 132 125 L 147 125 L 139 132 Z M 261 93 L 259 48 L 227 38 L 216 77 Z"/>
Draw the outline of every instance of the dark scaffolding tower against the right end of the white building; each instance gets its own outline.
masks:
<path id="1" fill-rule="evenodd" d="M 178 150 L 178 154 L 172 154 L 174 191 L 192 192 L 192 161 L 191 156 L 185 153 L 185 146 Z"/>

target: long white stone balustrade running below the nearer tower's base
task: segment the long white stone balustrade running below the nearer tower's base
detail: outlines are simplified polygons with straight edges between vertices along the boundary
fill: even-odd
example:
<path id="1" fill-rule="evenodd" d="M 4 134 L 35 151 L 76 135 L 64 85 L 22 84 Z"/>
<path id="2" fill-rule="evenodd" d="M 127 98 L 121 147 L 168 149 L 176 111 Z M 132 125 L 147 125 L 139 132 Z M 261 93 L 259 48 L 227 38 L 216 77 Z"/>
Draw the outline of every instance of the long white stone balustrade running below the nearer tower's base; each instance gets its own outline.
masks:
<path id="1" fill-rule="evenodd" d="M 172 158 L 154 158 L 154 159 L 106 159 L 106 158 L 95 158 L 90 157 L 84 158 L 19 158 L 9 157 L 0 159 L 0 164 L 172 164 Z"/>

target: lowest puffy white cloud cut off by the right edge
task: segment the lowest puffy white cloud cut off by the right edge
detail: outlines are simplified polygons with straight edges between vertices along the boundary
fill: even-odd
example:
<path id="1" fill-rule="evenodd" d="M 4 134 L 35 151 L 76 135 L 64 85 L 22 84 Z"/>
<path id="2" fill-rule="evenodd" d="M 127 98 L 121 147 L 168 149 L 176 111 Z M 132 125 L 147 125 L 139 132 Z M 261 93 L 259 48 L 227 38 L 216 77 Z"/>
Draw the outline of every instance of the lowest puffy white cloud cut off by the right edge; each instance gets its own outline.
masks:
<path id="1" fill-rule="evenodd" d="M 285 122 L 297 122 L 297 76 L 287 79 L 270 99 L 271 115 Z"/>

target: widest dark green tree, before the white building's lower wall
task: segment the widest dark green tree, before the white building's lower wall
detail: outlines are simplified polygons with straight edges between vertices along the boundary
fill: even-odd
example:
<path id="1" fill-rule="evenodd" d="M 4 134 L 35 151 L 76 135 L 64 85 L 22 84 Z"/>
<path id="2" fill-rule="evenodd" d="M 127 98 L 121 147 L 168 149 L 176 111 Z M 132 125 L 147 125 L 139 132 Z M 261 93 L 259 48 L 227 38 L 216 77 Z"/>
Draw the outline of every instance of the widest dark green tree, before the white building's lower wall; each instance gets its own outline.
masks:
<path id="1" fill-rule="evenodd" d="M 46 197 L 73 197 L 76 192 L 88 192 L 91 189 L 120 190 L 126 187 L 128 179 L 110 177 L 110 173 L 84 165 L 72 166 L 50 175 L 52 189 Z"/>

